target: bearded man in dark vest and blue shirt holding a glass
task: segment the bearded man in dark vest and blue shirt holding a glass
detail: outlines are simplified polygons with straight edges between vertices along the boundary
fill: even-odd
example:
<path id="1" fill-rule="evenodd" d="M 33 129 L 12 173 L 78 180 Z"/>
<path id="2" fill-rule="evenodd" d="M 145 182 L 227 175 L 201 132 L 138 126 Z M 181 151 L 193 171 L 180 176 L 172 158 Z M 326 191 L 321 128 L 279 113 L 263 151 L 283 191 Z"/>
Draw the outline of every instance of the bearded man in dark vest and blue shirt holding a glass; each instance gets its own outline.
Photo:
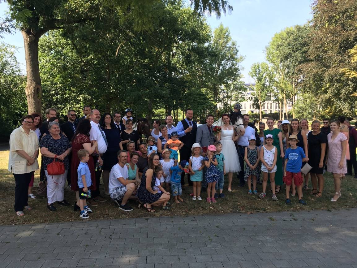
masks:
<path id="1" fill-rule="evenodd" d="M 178 138 L 183 142 L 183 147 L 180 151 L 180 160 L 188 160 L 191 156 L 192 145 L 196 142 L 197 124 L 192 120 L 193 110 L 187 108 L 185 110 L 186 118 L 177 123 L 176 131 L 178 133 Z M 185 184 L 185 173 L 181 175 L 181 184 Z M 190 174 L 187 174 L 188 185 L 192 186 Z"/>

